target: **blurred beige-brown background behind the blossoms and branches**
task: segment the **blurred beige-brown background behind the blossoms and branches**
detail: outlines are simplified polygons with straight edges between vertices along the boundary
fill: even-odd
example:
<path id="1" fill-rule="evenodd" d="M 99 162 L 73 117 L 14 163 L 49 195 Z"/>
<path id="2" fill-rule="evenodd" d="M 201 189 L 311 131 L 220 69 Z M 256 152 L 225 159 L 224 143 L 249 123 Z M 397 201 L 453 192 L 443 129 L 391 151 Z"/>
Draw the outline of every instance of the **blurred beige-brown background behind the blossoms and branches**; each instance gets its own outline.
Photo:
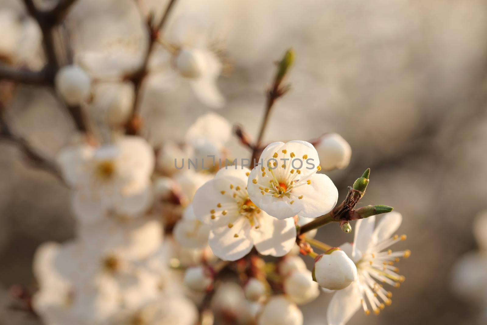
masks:
<path id="1" fill-rule="evenodd" d="M 143 2 L 155 12 L 167 3 Z M 0 0 L 3 8 L 24 12 L 17 0 Z M 349 324 L 472 324 L 480 308 L 451 292 L 450 270 L 461 254 L 476 249 L 471 221 L 487 197 L 487 1 L 180 0 L 171 22 L 181 14 L 214 26 L 232 66 L 218 81 L 227 100 L 218 114 L 253 135 L 273 62 L 293 47 L 292 91 L 277 102 L 264 140 L 341 134 L 352 147 L 352 162 L 329 173 L 340 199 L 370 167 L 360 203 L 386 204 L 403 214 L 399 231 L 408 240 L 397 249 L 412 250 L 398 265 L 406 281 L 379 316 L 359 312 Z M 133 0 L 78 0 L 66 26 L 75 49 L 143 35 Z M 32 53 L 32 67 L 42 65 L 40 52 Z M 210 110 L 186 92 L 160 80 L 147 85 L 141 111 L 150 117 L 145 134 L 154 144 L 182 140 Z M 75 132 L 47 88 L 20 86 L 9 108 L 16 130 L 48 156 Z M 250 154 L 236 139 L 230 149 L 235 157 Z M 74 236 L 69 192 L 5 141 L 0 180 L 0 324 L 30 324 L 8 308 L 7 289 L 34 289 L 37 246 Z M 335 246 L 353 240 L 332 226 L 320 229 L 317 239 Z M 305 324 L 326 323 L 330 298 L 322 293 L 302 308 Z"/>

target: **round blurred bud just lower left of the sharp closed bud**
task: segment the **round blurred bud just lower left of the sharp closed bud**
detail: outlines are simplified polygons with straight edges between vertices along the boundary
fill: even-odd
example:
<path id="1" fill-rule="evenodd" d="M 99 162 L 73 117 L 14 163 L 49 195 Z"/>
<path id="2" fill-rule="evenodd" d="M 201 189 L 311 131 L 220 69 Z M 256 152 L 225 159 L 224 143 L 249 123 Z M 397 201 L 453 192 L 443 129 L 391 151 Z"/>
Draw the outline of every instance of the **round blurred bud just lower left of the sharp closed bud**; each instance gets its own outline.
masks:
<path id="1" fill-rule="evenodd" d="M 318 297 L 318 283 L 313 281 L 311 271 L 298 270 L 284 280 L 284 292 L 296 304 L 307 304 Z"/>

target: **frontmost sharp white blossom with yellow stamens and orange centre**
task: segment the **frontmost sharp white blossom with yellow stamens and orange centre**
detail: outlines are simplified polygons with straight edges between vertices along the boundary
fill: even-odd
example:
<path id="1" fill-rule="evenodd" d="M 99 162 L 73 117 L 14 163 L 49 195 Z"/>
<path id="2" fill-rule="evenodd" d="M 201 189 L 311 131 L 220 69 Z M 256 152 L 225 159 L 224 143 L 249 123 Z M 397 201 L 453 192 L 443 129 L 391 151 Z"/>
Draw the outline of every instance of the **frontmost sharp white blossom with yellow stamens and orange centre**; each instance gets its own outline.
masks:
<path id="1" fill-rule="evenodd" d="M 321 170 L 316 149 L 306 141 L 273 142 L 248 178 L 255 205 L 278 219 L 316 218 L 337 204 L 338 190 Z"/>

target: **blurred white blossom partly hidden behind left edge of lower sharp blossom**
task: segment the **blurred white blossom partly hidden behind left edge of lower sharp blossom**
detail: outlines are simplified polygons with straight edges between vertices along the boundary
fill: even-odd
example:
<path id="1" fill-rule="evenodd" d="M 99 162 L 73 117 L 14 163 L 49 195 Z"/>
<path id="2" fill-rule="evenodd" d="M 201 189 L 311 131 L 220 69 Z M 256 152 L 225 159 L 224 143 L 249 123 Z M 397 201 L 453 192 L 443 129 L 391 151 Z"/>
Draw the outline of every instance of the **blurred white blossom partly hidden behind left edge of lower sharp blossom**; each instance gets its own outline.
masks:
<path id="1" fill-rule="evenodd" d="M 181 246 L 195 249 L 205 248 L 208 245 L 209 233 L 209 225 L 196 218 L 192 206 L 184 210 L 182 219 L 173 229 L 174 238 Z"/>

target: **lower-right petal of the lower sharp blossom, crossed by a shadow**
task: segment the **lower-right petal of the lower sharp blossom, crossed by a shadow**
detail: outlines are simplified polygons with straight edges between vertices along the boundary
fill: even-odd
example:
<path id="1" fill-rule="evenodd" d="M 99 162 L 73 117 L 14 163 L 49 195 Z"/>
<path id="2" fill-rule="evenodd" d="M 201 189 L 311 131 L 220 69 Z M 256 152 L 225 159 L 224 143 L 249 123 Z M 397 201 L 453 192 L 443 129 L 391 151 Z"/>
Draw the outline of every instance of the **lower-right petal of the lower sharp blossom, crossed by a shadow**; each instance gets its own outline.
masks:
<path id="1" fill-rule="evenodd" d="M 296 226 L 294 219 L 279 220 L 261 212 L 259 229 L 252 229 L 255 248 L 262 255 L 283 256 L 296 242 Z"/>

